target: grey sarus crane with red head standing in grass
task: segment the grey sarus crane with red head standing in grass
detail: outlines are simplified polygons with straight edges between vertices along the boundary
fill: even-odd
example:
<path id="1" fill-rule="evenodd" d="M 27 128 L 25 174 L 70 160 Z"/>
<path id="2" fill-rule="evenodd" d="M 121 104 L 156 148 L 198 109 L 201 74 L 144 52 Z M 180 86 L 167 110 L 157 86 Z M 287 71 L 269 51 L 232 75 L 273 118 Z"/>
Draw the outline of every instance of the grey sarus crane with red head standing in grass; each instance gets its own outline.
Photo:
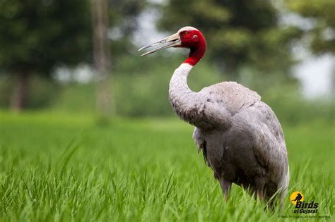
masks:
<path id="1" fill-rule="evenodd" d="M 281 200 L 289 183 L 288 155 L 281 124 L 257 92 L 237 82 L 221 82 L 193 92 L 187 75 L 204 56 L 206 40 L 194 27 L 139 50 L 156 47 L 145 56 L 169 47 L 188 48 L 188 58 L 170 80 L 170 104 L 183 120 L 195 126 L 193 139 L 220 182 L 224 200 L 232 183 L 255 197 Z M 206 73 L 204 73 L 206 75 Z"/>

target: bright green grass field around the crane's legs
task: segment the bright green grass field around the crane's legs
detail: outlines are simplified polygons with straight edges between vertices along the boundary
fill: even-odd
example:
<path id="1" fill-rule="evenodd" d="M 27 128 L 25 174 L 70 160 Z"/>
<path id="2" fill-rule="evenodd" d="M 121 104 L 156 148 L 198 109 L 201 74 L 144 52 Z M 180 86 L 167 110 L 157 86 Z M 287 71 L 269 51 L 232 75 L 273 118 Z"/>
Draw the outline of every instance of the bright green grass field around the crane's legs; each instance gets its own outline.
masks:
<path id="1" fill-rule="evenodd" d="M 283 124 L 289 194 L 334 220 L 334 124 Z M 0 112 L 1 221 L 292 221 L 236 185 L 228 202 L 177 118 L 96 125 L 88 115 Z M 313 219 L 314 221 L 314 219 Z M 324 219 L 320 219 L 324 221 Z"/>

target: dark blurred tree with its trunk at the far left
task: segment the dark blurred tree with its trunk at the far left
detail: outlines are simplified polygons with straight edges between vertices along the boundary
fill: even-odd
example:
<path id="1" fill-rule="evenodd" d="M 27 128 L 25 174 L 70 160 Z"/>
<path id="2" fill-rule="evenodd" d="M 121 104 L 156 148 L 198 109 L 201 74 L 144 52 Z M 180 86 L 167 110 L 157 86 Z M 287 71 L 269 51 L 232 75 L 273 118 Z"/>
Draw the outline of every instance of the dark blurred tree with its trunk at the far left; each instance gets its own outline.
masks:
<path id="1" fill-rule="evenodd" d="M 32 75 L 89 61 L 88 7 L 81 0 L 0 1 L 0 68 L 14 82 L 8 98 L 13 109 L 26 105 Z"/>

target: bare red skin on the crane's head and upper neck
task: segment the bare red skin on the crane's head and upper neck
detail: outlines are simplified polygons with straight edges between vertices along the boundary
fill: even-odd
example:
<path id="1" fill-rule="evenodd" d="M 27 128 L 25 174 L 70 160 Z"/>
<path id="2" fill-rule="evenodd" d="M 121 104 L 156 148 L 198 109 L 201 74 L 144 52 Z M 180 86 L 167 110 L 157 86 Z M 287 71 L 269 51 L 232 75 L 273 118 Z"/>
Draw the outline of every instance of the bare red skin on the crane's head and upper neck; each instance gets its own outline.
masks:
<path id="1" fill-rule="evenodd" d="M 189 48 L 189 57 L 183 62 L 191 66 L 195 66 L 204 56 L 206 51 L 206 39 L 199 30 L 189 31 L 188 35 L 180 34 L 182 40 L 182 47 Z"/>

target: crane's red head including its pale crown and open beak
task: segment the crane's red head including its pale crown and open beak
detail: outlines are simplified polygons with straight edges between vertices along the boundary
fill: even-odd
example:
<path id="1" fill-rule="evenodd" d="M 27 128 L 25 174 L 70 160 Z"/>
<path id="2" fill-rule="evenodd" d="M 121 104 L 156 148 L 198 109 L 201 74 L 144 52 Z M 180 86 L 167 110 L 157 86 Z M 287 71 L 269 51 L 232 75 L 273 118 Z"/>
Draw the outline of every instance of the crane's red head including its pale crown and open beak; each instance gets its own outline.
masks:
<path id="1" fill-rule="evenodd" d="M 153 44 L 149 44 L 146 47 L 142 47 L 142 49 L 146 49 L 149 47 L 160 46 L 156 49 L 146 52 L 141 56 L 146 56 L 148 54 L 152 54 L 155 51 L 160 51 L 162 49 L 167 49 L 170 47 L 180 47 L 180 48 L 189 48 L 189 57 L 184 61 L 184 63 L 189 63 L 194 66 L 198 61 L 204 56 L 206 51 L 206 40 L 204 35 L 197 30 L 195 27 L 187 26 L 182 27 L 177 33 L 174 35 L 170 35 L 165 39 L 161 39 L 158 42 Z"/>

